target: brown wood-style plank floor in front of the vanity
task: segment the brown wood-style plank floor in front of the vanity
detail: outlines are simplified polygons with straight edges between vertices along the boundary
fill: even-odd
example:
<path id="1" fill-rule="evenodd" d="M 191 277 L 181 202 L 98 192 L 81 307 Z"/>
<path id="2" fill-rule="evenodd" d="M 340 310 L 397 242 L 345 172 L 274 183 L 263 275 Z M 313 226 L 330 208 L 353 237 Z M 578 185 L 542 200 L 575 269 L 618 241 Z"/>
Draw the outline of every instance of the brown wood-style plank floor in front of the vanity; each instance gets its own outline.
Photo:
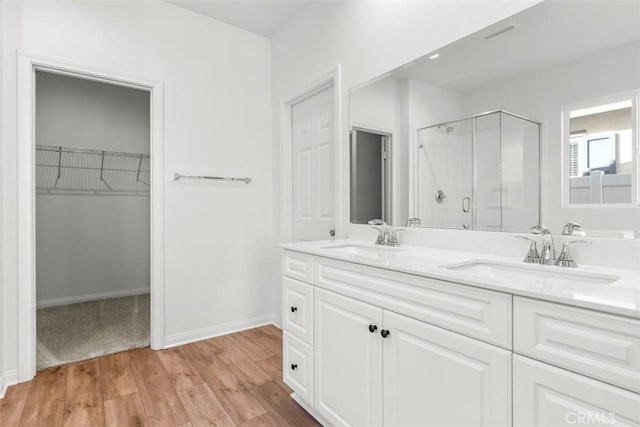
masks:
<path id="1" fill-rule="evenodd" d="M 264 326 L 40 371 L 0 400 L 0 426 L 318 425 L 290 393 L 282 332 Z"/>

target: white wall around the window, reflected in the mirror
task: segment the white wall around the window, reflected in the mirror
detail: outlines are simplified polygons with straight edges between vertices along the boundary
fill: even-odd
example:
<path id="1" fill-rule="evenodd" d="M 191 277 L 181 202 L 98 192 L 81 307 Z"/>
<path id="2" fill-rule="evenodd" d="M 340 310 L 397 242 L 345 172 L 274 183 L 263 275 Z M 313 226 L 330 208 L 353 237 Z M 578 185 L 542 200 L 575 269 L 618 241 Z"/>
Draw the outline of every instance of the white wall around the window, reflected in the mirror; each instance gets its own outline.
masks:
<path id="1" fill-rule="evenodd" d="M 517 76 L 463 94 L 465 115 L 505 109 L 544 123 L 542 223 L 554 233 L 560 233 L 566 222 L 575 221 L 590 229 L 606 229 L 607 224 L 615 224 L 616 229 L 634 230 L 635 235 L 640 236 L 637 209 L 563 208 L 561 198 L 562 106 L 638 89 L 639 55 L 637 45 L 621 45 L 595 57 Z"/>

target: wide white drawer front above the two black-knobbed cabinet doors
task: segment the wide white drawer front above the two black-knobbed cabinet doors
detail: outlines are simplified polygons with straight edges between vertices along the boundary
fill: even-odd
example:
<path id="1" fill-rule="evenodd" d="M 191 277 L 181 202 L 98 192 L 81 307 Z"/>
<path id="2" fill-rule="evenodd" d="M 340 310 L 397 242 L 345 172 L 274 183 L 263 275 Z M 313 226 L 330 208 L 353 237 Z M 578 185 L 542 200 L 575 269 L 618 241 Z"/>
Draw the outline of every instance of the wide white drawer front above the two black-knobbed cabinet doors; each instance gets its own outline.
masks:
<path id="1" fill-rule="evenodd" d="M 315 258 L 314 284 L 511 349 L 511 295 L 381 268 Z"/>

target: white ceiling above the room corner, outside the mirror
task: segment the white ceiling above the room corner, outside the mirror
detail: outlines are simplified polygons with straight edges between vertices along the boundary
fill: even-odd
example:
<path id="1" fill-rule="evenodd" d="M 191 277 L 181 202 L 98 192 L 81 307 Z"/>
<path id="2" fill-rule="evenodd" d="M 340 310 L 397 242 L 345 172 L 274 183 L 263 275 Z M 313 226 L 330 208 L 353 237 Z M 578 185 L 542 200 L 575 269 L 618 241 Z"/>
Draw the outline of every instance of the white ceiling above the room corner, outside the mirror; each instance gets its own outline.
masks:
<path id="1" fill-rule="evenodd" d="M 295 15 L 321 1 L 174 0 L 168 3 L 271 38 Z"/>

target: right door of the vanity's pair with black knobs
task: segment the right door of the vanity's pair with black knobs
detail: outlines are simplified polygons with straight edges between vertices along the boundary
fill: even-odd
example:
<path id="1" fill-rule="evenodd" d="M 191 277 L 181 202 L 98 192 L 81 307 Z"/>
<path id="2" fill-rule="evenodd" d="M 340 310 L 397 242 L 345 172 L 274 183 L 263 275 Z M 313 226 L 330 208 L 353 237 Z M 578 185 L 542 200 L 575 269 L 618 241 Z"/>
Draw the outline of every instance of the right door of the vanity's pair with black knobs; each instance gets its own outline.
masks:
<path id="1" fill-rule="evenodd" d="M 511 353 L 384 312 L 384 425 L 509 426 Z"/>

